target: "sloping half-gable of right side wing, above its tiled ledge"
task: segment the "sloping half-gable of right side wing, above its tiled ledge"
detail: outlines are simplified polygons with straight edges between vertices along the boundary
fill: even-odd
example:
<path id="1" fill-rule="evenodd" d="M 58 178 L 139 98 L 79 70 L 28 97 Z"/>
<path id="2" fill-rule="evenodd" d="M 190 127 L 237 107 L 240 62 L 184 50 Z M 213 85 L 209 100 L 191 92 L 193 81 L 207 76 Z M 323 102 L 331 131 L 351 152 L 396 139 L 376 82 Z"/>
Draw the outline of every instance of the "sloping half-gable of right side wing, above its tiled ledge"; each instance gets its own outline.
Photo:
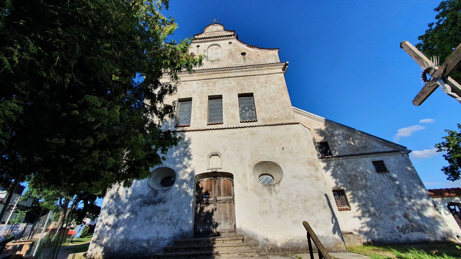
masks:
<path id="1" fill-rule="evenodd" d="M 295 107 L 293 107 L 293 111 L 296 119 L 311 130 L 314 145 L 319 151 L 319 158 L 410 152 L 402 145 L 322 118 L 310 112 Z M 325 150 L 320 150 L 319 147 Z M 330 153 L 328 153 L 328 148 Z M 323 152 L 323 154 L 320 152 Z"/>

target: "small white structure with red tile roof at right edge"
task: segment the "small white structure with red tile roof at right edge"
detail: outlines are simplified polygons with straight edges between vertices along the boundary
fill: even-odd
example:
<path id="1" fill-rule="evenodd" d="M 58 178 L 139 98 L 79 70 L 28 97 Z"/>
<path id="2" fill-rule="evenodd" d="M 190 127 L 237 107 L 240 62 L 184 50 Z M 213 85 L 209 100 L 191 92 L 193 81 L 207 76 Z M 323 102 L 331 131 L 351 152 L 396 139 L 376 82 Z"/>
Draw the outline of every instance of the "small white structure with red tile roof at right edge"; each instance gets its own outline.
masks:
<path id="1" fill-rule="evenodd" d="M 456 241 L 461 242 L 461 188 L 428 189 Z"/>

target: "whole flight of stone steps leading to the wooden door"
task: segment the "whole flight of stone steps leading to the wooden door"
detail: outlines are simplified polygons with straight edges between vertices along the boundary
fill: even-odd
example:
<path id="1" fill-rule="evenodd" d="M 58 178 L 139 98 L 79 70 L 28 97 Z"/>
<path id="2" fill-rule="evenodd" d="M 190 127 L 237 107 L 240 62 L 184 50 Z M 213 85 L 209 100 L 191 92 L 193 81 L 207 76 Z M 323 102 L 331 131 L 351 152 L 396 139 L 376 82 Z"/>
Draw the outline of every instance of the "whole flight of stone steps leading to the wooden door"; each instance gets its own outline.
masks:
<path id="1" fill-rule="evenodd" d="M 243 235 L 220 237 L 198 237 L 174 241 L 174 246 L 164 247 L 164 253 L 152 255 L 153 259 L 268 259 L 260 254 L 250 242 L 244 241 Z"/>

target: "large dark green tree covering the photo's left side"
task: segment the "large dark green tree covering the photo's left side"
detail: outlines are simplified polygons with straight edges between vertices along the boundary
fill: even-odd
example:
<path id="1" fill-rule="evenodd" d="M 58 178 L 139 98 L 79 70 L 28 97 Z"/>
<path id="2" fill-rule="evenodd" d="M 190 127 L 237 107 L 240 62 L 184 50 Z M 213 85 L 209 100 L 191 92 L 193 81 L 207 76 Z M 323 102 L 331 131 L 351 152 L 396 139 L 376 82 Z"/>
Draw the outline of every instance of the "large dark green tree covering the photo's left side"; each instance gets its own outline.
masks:
<path id="1" fill-rule="evenodd" d="M 160 78 L 175 82 L 203 58 L 188 53 L 190 39 L 168 39 L 177 24 L 163 8 L 168 0 L 2 1 L 0 108 L 13 107 L 0 109 L 1 180 L 83 200 L 161 164 L 179 138 L 160 129 L 176 91 Z"/>

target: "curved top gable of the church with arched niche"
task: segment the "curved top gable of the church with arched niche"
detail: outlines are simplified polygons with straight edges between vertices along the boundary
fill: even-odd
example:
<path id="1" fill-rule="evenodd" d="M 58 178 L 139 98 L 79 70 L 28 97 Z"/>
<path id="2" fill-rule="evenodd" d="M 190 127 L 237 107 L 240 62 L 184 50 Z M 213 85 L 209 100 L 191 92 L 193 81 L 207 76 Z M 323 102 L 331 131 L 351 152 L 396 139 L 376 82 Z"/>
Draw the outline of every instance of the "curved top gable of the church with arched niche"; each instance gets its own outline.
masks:
<path id="1" fill-rule="evenodd" d="M 278 48 L 264 48 L 240 41 L 235 30 L 222 24 L 210 24 L 203 32 L 195 34 L 190 52 L 203 54 L 206 59 L 197 69 L 238 67 L 279 63 Z"/>

